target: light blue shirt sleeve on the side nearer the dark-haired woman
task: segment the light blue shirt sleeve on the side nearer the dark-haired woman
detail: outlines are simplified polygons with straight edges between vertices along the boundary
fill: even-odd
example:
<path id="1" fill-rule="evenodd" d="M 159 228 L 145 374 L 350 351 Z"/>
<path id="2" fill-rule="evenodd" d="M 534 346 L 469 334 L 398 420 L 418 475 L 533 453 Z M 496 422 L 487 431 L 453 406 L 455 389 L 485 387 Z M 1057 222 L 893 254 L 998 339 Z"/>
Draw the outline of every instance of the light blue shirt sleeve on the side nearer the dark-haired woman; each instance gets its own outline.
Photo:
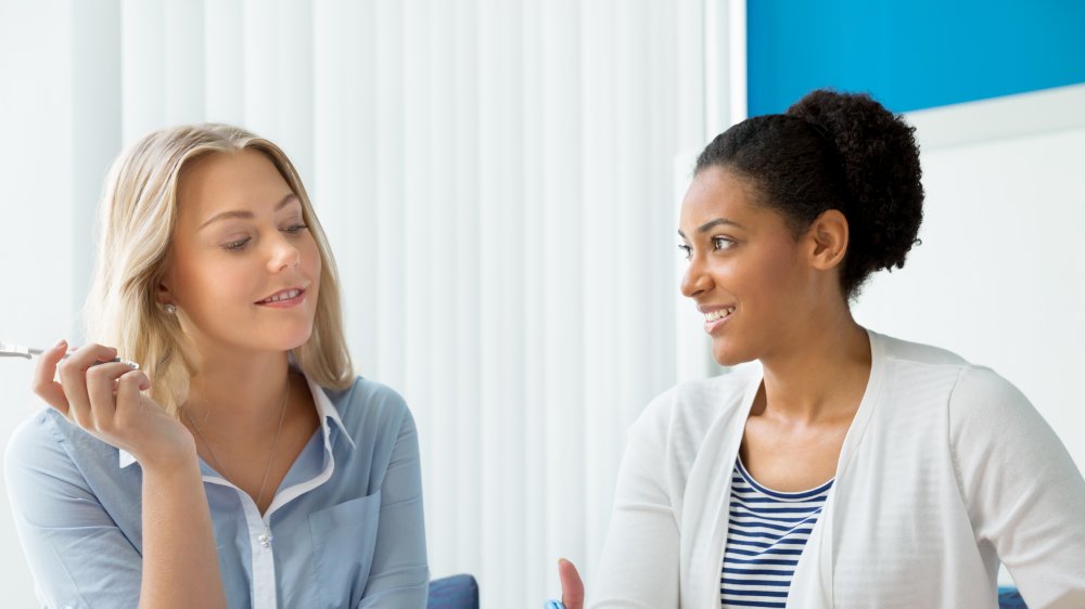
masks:
<path id="1" fill-rule="evenodd" d="M 398 397 L 397 397 L 398 398 Z M 381 484 L 381 516 L 359 609 L 424 608 L 430 586 L 418 432 L 407 406 Z"/>

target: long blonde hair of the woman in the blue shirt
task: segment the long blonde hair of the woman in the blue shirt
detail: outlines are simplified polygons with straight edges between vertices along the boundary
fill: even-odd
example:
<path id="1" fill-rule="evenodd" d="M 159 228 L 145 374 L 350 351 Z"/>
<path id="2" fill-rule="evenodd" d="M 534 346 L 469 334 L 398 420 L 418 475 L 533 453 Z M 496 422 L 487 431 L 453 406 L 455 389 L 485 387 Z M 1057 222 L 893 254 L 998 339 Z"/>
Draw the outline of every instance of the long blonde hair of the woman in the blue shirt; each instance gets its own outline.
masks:
<path id="1" fill-rule="evenodd" d="M 151 397 L 178 416 L 194 367 L 191 347 L 177 322 L 156 300 L 177 223 L 182 170 L 214 153 L 255 150 L 267 156 L 302 203 L 305 224 L 320 252 L 320 295 L 312 335 L 291 353 L 310 379 L 345 389 L 354 379 L 343 338 L 335 261 L 294 165 L 268 140 L 228 125 L 189 125 L 155 131 L 114 161 L 98 219 L 98 261 L 84 309 L 88 340 L 116 347 L 139 362 L 151 379 Z"/>

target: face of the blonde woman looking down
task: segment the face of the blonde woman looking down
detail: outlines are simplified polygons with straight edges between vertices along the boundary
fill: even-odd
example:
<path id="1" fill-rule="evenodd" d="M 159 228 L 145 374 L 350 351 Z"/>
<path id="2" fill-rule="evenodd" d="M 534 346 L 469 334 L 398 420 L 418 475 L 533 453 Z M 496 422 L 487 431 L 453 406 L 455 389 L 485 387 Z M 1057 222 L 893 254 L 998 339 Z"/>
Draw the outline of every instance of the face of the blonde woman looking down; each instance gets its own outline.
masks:
<path id="1" fill-rule="evenodd" d="M 158 300 L 199 351 L 286 351 L 312 333 L 320 256 L 302 204 L 264 154 L 213 153 L 186 167 Z M 214 350 L 214 351 L 209 351 Z"/>

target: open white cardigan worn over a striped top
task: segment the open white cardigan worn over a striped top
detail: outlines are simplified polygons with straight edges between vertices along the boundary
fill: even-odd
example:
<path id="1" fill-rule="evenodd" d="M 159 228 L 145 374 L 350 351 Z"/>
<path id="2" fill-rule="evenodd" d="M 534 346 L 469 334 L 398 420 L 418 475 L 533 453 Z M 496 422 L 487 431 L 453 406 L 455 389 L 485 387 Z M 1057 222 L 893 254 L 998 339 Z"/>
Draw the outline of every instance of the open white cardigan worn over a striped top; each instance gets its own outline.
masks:
<path id="1" fill-rule="evenodd" d="M 1012 385 L 869 333 L 870 379 L 789 608 L 1085 608 L 1085 480 Z M 716 609 L 731 470 L 757 364 L 682 384 L 628 433 L 589 608 Z M 1068 397 L 1076 398 L 1076 397 Z"/>

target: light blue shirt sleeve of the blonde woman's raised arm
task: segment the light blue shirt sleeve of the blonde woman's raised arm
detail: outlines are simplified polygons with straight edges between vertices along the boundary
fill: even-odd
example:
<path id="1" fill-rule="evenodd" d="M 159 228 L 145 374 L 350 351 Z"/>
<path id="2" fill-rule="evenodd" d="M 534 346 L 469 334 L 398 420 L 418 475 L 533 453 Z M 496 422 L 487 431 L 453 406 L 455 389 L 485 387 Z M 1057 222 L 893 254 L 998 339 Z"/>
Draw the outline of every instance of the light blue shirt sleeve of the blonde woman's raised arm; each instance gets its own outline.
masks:
<path id="1" fill-rule="evenodd" d="M 4 454 L 15 527 L 38 599 L 50 608 L 136 607 L 142 559 L 67 453 L 48 414 L 24 423 Z"/>

